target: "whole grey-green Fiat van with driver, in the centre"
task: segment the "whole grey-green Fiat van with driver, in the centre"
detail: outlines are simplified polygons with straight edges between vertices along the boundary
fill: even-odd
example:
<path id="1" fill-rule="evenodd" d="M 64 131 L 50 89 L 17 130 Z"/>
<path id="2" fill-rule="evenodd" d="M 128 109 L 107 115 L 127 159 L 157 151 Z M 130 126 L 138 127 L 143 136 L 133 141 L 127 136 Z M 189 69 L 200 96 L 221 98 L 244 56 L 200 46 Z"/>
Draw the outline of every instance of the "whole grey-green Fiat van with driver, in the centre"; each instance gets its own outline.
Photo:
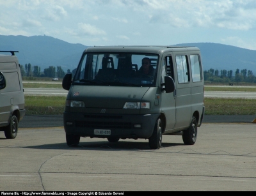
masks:
<path id="1" fill-rule="evenodd" d="M 68 90 L 63 123 L 68 146 L 80 137 L 148 139 L 163 135 L 196 142 L 204 117 L 200 49 L 173 46 L 99 46 L 84 50 Z"/>

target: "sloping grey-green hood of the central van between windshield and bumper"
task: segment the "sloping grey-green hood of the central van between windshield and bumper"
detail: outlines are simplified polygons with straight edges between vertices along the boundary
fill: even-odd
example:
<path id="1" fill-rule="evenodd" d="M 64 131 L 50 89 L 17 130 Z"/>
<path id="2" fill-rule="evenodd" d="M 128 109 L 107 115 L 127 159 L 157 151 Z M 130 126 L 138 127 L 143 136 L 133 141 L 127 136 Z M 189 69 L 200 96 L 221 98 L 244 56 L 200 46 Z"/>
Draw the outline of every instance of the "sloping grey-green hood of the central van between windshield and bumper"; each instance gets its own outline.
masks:
<path id="1" fill-rule="evenodd" d="M 141 102 L 150 87 L 81 86 L 70 88 L 68 100 L 81 100 L 86 108 L 122 109 L 125 102 Z"/>

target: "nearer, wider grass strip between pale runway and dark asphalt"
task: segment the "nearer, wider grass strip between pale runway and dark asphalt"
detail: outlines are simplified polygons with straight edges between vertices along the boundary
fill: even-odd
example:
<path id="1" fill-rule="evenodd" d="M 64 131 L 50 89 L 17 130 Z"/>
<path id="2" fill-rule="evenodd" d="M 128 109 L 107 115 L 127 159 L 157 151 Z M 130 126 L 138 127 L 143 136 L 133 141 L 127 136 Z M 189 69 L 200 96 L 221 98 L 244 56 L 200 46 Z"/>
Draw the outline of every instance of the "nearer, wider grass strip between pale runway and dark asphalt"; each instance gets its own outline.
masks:
<path id="1" fill-rule="evenodd" d="M 25 96 L 26 115 L 63 114 L 65 96 Z M 256 101 L 250 99 L 205 98 L 205 115 L 255 115 Z"/>

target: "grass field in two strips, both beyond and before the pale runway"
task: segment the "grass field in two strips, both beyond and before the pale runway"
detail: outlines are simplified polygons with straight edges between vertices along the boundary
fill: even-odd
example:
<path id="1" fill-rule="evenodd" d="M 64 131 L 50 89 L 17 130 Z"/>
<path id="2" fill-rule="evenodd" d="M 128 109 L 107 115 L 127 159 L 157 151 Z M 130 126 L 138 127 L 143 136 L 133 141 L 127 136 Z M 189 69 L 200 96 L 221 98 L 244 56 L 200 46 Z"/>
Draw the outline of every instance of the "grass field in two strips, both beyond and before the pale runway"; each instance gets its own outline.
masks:
<path id="1" fill-rule="evenodd" d="M 62 88 L 61 83 L 24 83 L 24 88 Z M 255 92 L 256 86 L 205 86 L 205 91 L 244 91 Z M 25 96 L 25 107 L 27 115 L 52 115 L 63 114 L 65 109 L 63 96 Z M 256 100 L 250 99 L 227 99 L 227 98 L 205 98 L 205 115 L 255 115 Z"/>

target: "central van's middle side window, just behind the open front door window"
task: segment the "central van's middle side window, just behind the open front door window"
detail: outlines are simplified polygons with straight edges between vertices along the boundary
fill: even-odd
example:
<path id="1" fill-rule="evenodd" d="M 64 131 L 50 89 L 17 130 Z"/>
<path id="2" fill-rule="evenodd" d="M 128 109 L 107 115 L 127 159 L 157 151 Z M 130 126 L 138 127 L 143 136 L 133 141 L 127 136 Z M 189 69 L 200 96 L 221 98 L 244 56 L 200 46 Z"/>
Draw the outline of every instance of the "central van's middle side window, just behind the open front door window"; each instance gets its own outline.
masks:
<path id="1" fill-rule="evenodd" d="M 186 83 L 189 82 L 189 73 L 188 73 L 188 58 L 185 55 L 176 56 L 176 66 L 177 66 L 177 76 L 178 82 Z"/>

